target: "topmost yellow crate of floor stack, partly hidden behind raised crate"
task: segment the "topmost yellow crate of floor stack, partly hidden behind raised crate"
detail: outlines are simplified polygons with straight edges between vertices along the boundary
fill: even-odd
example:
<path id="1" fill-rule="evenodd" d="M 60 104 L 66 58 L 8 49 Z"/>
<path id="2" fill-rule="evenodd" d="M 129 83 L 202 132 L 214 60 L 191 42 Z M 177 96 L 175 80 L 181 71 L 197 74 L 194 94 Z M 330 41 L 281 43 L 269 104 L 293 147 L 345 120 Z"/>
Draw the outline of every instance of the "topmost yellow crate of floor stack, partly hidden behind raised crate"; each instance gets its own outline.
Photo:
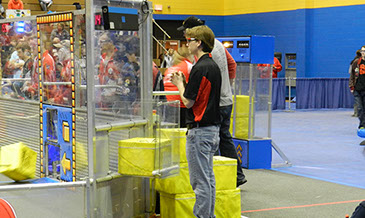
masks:
<path id="1" fill-rule="evenodd" d="M 172 154 L 179 157 L 180 163 L 186 163 L 186 128 L 161 129 L 161 138 L 170 139 Z M 174 158 L 176 160 L 176 158 Z"/>

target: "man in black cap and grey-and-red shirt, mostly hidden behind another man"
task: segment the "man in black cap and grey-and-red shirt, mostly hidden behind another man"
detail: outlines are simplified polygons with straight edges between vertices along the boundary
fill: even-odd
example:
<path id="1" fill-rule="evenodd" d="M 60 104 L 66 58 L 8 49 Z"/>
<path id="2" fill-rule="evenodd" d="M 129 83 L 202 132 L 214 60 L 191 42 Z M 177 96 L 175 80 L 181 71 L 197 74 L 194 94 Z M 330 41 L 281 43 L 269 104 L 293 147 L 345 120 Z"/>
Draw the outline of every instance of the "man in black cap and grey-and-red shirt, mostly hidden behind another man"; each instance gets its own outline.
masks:
<path id="1" fill-rule="evenodd" d="M 186 31 L 189 28 L 204 25 L 204 21 L 197 17 L 191 16 L 185 19 L 183 25 L 177 30 Z M 243 174 L 242 165 L 238 159 L 236 147 L 232 140 L 232 135 L 229 132 L 231 124 L 231 113 L 233 107 L 232 100 L 232 82 L 236 77 L 237 64 L 229 54 L 223 44 L 217 39 L 214 40 L 214 48 L 212 50 L 212 58 L 218 64 L 221 72 L 221 99 L 219 103 L 219 113 L 221 118 L 221 125 L 219 129 L 219 152 L 224 157 L 234 158 L 237 160 L 237 187 L 247 182 L 246 176 Z M 218 153 L 216 153 L 218 155 Z"/>

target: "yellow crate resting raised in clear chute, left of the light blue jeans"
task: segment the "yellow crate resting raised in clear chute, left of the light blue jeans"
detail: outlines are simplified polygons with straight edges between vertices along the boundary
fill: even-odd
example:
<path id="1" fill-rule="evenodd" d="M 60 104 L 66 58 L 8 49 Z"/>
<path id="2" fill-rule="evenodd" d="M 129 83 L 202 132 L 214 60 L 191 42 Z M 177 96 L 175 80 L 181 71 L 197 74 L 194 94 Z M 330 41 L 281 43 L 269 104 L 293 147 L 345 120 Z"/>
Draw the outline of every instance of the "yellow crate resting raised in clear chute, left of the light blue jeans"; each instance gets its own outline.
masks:
<path id="1" fill-rule="evenodd" d="M 120 174 L 150 177 L 152 171 L 172 165 L 171 141 L 154 138 L 121 140 L 118 159 Z"/>

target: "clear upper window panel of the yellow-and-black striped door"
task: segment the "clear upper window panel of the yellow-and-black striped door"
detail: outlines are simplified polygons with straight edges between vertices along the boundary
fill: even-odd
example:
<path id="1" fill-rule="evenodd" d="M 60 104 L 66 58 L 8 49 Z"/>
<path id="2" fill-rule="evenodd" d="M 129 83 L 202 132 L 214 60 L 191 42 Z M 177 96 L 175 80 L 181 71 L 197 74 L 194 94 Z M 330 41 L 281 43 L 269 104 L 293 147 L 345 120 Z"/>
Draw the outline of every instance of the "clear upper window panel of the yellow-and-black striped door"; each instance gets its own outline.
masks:
<path id="1" fill-rule="evenodd" d="M 42 74 L 40 96 L 46 104 L 69 107 L 72 105 L 73 30 L 70 23 L 59 21 L 38 24 L 41 61 L 36 62 L 34 69 Z"/>

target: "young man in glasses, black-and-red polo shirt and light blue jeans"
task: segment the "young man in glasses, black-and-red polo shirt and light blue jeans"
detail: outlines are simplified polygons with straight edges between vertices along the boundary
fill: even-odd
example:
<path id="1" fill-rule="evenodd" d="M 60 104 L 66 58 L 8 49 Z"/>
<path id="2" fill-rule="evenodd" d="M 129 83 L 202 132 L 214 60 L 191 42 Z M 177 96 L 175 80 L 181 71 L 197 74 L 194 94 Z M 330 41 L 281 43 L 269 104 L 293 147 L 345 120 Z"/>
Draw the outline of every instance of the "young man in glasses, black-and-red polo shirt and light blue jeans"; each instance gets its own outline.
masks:
<path id="1" fill-rule="evenodd" d="M 212 60 L 214 34 L 207 26 L 187 29 L 185 37 L 191 54 L 198 61 L 191 69 L 185 85 L 181 72 L 174 72 L 171 82 L 179 89 L 182 102 L 188 108 L 186 123 L 186 153 L 190 184 L 195 192 L 196 217 L 215 217 L 215 177 L 213 155 L 219 145 L 219 100 L 221 73 Z"/>

